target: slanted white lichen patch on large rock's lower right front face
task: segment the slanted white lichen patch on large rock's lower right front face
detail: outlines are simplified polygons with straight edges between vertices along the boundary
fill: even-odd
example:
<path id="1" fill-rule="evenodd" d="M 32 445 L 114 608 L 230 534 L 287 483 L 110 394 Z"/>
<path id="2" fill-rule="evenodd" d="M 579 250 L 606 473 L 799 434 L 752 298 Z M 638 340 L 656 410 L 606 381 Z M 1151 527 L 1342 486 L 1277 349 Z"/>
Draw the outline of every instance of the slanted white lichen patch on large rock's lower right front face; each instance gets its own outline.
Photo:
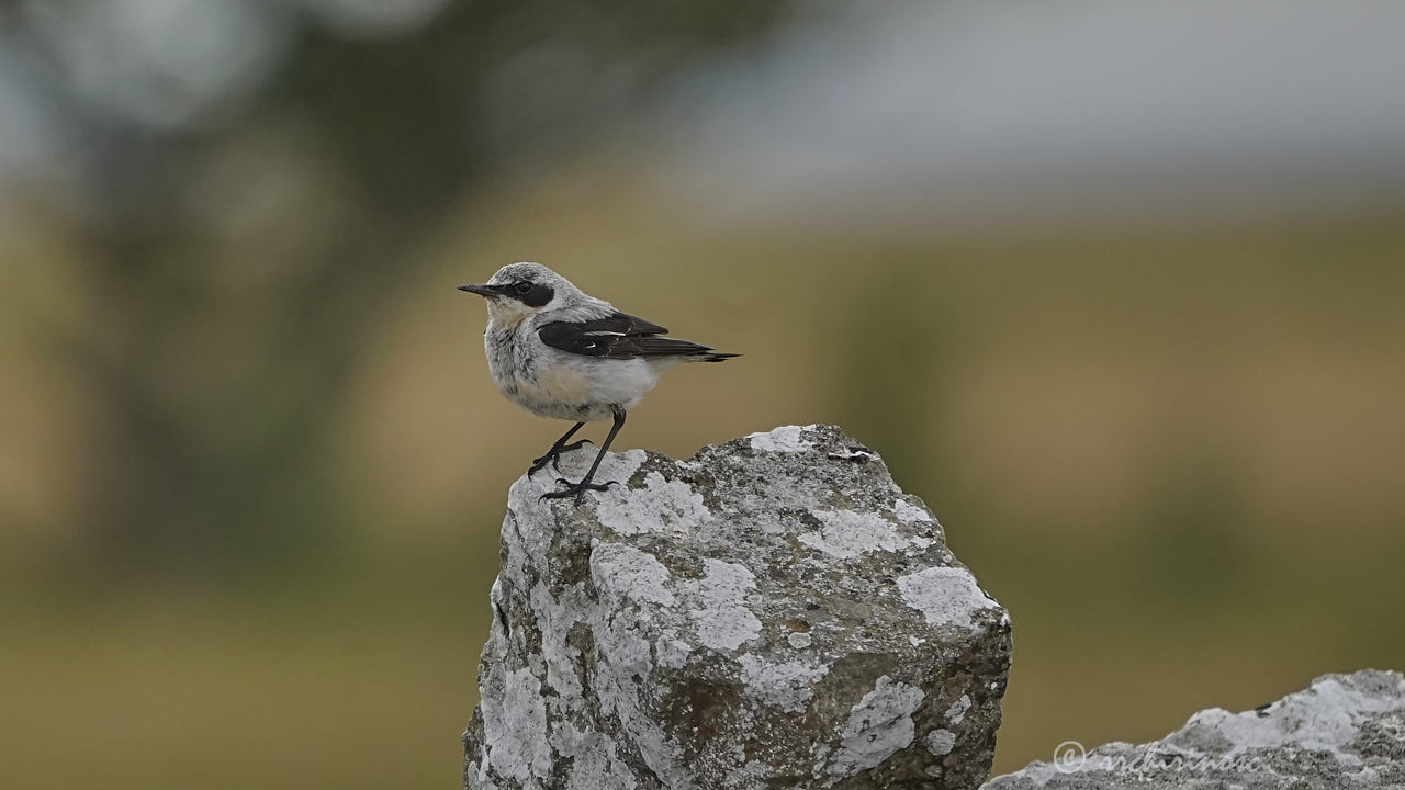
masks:
<path id="1" fill-rule="evenodd" d="M 912 745 L 912 714 L 926 694 L 916 686 L 878 678 L 839 731 L 839 751 L 829 762 L 829 784 L 844 776 L 877 766 L 898 749 Z"/>

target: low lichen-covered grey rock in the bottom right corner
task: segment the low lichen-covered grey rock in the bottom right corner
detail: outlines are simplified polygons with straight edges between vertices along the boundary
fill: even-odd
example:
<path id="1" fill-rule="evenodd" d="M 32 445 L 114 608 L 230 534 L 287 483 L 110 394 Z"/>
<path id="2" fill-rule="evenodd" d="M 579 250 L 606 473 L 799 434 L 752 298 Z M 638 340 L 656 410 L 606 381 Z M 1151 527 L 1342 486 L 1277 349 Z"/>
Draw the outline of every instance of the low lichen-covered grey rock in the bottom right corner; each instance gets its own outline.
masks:
<path id="1" fill-rule="evenodd" d="M 1245 713 L 1208 708 L 1152 744 L 1061 745 L 985 790 L 1405 787 L 1405 678 L 1363 669 Z"/>

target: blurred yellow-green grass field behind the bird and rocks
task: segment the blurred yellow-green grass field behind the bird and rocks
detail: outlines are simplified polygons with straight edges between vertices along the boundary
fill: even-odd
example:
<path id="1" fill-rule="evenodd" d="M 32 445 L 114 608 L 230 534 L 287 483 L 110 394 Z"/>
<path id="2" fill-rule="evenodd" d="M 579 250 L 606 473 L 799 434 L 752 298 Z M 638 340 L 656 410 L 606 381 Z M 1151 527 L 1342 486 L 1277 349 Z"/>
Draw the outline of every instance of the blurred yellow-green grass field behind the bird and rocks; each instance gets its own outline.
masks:
<path id="1" fill-rule="evenodd" d="M 6 784 L 457 786 L 503 493 L 558 426 L 493 392 L 454 285 L 520 259 L 746 354 L 670 377 L 622 447 L 833 422 L 927 502 L 1014 620 L 996 772 L 1405 668 L 1401 215 L 828 236 L 652 205 L 580 177 L 406 250 L 431 263 L 327 403 L 336 540 L 235 582 L 83 551 L 100 426 L 24 328 L 100 332 L 101 294 L 28 231 L 0 264 Z"/>

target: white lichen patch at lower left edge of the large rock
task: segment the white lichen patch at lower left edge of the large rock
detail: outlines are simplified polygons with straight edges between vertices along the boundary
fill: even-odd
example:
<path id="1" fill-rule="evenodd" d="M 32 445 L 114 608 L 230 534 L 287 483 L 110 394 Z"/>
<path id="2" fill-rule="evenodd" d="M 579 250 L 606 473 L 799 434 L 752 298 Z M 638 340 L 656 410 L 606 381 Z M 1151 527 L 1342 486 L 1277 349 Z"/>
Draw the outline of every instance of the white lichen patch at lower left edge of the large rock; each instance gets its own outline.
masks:
<path id="1" fill-rule="evenodd" d="M 507 673 L 502 701 L 482 701 L 483 731 L 488 734 L 488 762 L 493 770 L 523 784 L 551 770 L 547 742 L 547 704 L 541 683 L 530 669 Z"/>

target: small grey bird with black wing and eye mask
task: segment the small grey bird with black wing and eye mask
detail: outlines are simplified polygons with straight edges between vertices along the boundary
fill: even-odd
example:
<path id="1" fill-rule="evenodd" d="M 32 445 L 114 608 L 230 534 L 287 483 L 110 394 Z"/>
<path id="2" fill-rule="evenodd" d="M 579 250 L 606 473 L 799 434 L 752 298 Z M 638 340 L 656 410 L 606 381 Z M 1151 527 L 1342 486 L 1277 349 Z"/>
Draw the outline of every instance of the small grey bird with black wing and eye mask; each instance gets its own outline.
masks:
<path id="1" fill-rule="evenodd" d="M 548 462 L 559 472 L 561 454 L 589 443 L 570 441 L 587 422 L 613 420 L 590 471 L 577 482 L 556 478 L 565 488 L 541 499 L 575 496 L 579 505 L 587 491 L 615 485 L 593 482 L 596 470 L 624 427 L 625 413 L 639 405 L 659 377 L 679 363 L 719 363 L 740 356 L 663 337 L 667 329 L 620 312 L 540 263 L 513 263 L 486 283 L 458 290 L 488 302 L 483 351 L 497 391 L 537 416 L 575 423 L 544 455 L 532 458 L 528 478 Z"/>

